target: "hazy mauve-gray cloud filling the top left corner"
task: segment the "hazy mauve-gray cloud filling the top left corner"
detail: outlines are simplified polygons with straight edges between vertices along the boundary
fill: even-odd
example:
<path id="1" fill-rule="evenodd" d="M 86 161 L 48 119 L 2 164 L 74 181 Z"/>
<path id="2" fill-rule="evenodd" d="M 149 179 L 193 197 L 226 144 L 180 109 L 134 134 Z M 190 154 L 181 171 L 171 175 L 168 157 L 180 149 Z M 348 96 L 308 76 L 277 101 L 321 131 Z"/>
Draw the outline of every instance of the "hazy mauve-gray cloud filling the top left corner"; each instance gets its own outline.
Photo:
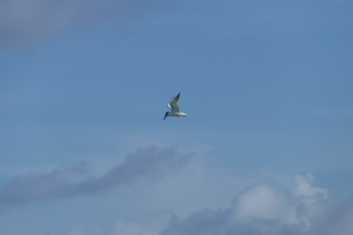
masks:
<path id="1" fill-rule="evenodd" d="M 68 27 L 91 27 L 111 19 L 115 25 L 150 9 L 158 0 L 5 0 L 0 1 L 0 45 L 35 44 Z"/>

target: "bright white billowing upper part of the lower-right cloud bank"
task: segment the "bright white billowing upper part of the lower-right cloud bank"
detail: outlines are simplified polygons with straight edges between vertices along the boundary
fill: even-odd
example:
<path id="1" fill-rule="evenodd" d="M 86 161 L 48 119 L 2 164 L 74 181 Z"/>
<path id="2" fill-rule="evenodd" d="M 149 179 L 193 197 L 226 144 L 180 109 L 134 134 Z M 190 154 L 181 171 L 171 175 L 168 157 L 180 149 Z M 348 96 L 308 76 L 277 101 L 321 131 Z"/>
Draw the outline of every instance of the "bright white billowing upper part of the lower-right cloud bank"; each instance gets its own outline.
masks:
<path id="1" fill-rule="evenodd" d="M 236 221 L 253 219 L 276 220 L 279 225 L 310 227 L 311 218 L 321 213 L 321 199 L 327 198 L 327 190 L 312 187 L 313 177 L 295 175 L 292 191 L 276 189 L 270 185 L 254 186 L 234 199 L 232 210 Z M 319 200 L 320 199 L 320 200 Z"/>

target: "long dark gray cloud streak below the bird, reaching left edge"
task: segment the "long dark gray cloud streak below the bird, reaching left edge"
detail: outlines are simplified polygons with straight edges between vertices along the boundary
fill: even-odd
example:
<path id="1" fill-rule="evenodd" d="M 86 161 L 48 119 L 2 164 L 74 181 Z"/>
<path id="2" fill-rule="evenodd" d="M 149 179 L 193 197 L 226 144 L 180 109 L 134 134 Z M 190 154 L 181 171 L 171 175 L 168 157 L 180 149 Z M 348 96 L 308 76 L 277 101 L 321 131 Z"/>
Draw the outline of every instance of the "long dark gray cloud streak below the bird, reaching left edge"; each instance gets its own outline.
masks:
<path id="1" fill-rule="evenodd" d="M 186 165 L 190 154 L 175 148 L 148 147 L 126 156 L 120 165 L 113 166 L 101 177 L 93 177 L 92 169 L 80 163 L 46 174 L 19 176 L 6 184 L 0 192 L 0 203 L 22 203 L 32 200 L 70 197 L 99 193 L 143 178 L 156 178 Z M 70 175 L 81 179 L 72 182 Z"/>

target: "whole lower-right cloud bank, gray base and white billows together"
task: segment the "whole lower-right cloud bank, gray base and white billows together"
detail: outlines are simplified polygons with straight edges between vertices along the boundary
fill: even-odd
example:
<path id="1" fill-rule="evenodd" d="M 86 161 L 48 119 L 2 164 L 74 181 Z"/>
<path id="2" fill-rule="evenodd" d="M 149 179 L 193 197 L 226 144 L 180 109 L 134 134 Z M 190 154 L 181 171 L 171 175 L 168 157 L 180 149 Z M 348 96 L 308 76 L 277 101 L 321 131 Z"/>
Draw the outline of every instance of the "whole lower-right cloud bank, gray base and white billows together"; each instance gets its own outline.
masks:
<path id="1" fill-rule="evenodd" d="M 160 235 L 350 235 L 353 197 L 339 206 L 327 190 L 312 187 L 311 174 L 298 175 L 291 189 L 270 185 L 248 188 L 227 209 L 203 210 L 172 218 Z"/>

